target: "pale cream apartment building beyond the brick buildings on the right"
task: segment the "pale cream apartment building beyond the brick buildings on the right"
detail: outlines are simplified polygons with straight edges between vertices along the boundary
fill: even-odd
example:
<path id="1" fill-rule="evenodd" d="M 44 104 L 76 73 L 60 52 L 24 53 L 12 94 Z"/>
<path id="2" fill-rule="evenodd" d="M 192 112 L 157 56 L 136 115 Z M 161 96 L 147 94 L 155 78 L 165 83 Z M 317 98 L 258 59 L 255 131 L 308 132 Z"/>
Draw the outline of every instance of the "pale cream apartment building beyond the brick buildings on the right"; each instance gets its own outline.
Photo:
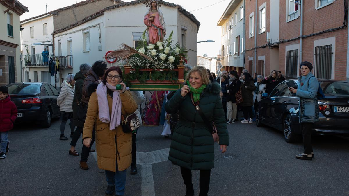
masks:
<path id="1" fill-rule="evenodd" d="M 217 25 L 222 28 L 223 70 L 241 72 L 244 64 L 245 41 L 245 0 L 231 0 Z"/>

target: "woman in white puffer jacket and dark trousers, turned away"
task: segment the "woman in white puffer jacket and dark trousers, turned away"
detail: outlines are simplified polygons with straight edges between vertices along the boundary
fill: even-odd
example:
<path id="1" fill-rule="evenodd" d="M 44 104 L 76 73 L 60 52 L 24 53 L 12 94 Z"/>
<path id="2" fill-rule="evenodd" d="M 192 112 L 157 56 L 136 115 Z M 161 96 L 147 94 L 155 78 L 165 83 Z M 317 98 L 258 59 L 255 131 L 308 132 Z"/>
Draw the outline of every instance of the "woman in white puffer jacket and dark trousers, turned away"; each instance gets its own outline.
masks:
<path id="1" fill-rule="evenodd" d="M 63 81 L 61 85 L 61 92 L 57 98 L 57 105 L 61 111 L 61 136 L 60 140 L 68 140 L 64 135 L 64 129 L 67 124 L 68 119 L 70 119 L 70 137 L 74 134 L 74 123 L 73 123 L 73 101 L 74 101 L 74 75 L 68 74 L 66 80 Z"/>

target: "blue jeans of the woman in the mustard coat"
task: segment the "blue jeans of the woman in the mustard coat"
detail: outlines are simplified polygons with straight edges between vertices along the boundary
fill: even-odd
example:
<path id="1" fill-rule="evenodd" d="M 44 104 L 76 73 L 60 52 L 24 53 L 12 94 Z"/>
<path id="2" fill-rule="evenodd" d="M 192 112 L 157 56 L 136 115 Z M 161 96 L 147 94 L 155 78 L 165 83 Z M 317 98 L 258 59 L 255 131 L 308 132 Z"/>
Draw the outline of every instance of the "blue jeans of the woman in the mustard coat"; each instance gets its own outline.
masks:
<path id="1" fill-rule="evenodd" d="M 118 170 L 118 166 L 116 166 Z M 125 195 L 125 184 L 126 184 L 126 169 L 124 171 L 105 171 L 105 176 L 107 178 L 108 185 L 115 185 L 116 195 Z"/>

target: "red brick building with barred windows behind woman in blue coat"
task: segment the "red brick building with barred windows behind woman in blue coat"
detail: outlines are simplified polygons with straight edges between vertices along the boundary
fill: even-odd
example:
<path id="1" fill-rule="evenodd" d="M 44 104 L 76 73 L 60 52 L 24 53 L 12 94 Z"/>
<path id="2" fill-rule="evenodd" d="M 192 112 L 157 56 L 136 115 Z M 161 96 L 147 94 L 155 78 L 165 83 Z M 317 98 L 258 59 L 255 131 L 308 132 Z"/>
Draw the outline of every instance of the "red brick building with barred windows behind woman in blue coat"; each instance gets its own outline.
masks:
<path id="1" fill-rule="evenodd" d="M 287 79 L 299 76 L 300 62 L 309 61 L 317 78 L 349 80 L 348 5 L 344 2 L 302 1 L 302 10 L 295 0 L 280 1 L 279 63 Z"/>

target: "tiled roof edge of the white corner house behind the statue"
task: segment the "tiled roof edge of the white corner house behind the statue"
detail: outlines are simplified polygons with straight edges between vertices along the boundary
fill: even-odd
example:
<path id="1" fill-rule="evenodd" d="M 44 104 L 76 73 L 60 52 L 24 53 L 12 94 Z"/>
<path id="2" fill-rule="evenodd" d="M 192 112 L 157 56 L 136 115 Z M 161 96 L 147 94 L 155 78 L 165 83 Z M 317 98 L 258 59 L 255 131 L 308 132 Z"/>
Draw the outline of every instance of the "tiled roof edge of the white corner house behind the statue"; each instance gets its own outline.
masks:
<path id="1" fill-rule="evenodd" d="M 96 17 L 98 17 L 100 15 L 103 15 L 106 10 L 111 10 L 111 9 L 115 9 L 115 8 L 119 8 L 119 7 L 129 6 L 129 5 L 136 5 L 136 4 L 139 4 L 139 3 L 143 3 L 144 1 L 146 1 L 146 0 L 131 1 L 131 2 L 120 3 L 118 5 L 106 7 L 104 9 L 102 9 L 101 11 L 98 11 L 97 13 L 92 14 L 92 15 L 82 19 L 81 21 L 78 21 L 78 22 L 75 22 L 73 24 L 70 24 L 67 27 L 64 27 L 62 29 L 58 29 L 56 31 L 53 31 L 52 34 L 57 34 L 59 32 L 66 31 L 68 29 L 76 27 L 77 25 L 80 25 L 80 24 L 85 23 L 85 22 L 87 22 L 89 20 L 92 20 L 93 18 L 96 18 Z M 174 4 L 174 3 L 169 3 L 169 2 L 165 2 L 164 5 L 170 6 L 170 7 L 178 7 L 178 9 L 179 9 L 179 11 L 181 13 L 183 13 L 188 18 L 190 18 L 193 22 L 195 22 L 196 25 L 198 25 L 198 27 L 200 26 L 200 22 L 195 18 L 195 16 L 193 14 L 191 14 L 190 12 L 188 12 L 186 9 L 184 9 L 182 6 Z"/>

